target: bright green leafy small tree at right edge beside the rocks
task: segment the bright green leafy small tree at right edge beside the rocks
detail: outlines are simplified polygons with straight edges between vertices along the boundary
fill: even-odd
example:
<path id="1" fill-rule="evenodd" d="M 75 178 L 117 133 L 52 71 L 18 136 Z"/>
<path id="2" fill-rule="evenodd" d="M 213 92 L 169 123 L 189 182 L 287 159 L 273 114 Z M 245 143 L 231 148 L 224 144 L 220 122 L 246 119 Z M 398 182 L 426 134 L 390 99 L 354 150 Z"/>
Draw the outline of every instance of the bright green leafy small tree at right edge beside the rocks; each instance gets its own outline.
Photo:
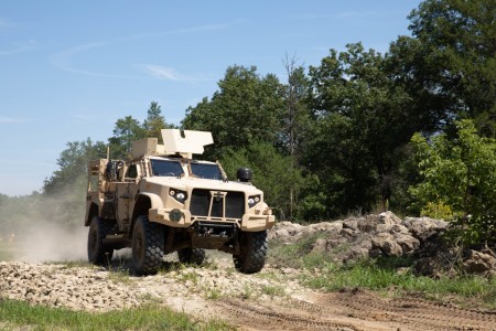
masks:
<path id="1" fill-rule="evenodd" d="M 456 122 L 457 136 L 442 134 L 412 143 L 421 183 L 410 189 L 416 210 L 440 211 L 456 225 L 465 243 L 496 244 L 496 139 L 483 138 L 471 120 Z"/>

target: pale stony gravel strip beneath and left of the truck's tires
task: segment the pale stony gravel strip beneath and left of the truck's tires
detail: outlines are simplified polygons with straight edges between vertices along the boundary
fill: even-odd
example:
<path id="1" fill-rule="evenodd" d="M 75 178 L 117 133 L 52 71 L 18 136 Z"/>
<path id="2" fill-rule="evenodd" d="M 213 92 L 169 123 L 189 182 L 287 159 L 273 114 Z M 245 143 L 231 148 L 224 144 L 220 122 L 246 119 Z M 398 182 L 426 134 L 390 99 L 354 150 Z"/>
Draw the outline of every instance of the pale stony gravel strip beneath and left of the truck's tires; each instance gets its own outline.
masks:
<path id="1" fill-rule="evenodd" d="M 214 254 L 216 256 L 212 257 Z M 0 299 L 86 311 L 163 302 L 180 311 L 201 312 L 208 309 L 207 299 L 222 296 L 263 298 L 303 290 L 296 280 L 301 270 L 276 270 L 267 266 L 263 273 L 281 276 L 266 279 L 257 274 L 235 271 L 227 254 L 209 252 L 208 256 L 213 263 L 204 267 L 165 260 L 164 270 L 147 277 L 130 276 L 126 265 L 112 265 L 106 269 L 80 263 L 0 261 Z M 281 279 L 284 279 L 283 287 Z"/>

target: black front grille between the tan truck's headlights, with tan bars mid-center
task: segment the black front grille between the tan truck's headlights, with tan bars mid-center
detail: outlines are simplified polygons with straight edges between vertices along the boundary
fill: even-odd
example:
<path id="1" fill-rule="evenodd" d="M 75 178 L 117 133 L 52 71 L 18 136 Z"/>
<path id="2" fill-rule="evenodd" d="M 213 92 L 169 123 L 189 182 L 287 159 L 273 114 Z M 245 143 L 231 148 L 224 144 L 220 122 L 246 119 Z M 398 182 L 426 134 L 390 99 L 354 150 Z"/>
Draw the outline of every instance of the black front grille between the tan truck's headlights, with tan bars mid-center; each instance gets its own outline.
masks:
<path id="1" fill-rule="evenodd" d="M 212 212 L 208 215 L 211 203 Z M 224 204 L 225 215 L 223 215 Z M 194 189 L 190 211 L 192 216 L 241 218 L 245 214 L 245 193 Z"/>

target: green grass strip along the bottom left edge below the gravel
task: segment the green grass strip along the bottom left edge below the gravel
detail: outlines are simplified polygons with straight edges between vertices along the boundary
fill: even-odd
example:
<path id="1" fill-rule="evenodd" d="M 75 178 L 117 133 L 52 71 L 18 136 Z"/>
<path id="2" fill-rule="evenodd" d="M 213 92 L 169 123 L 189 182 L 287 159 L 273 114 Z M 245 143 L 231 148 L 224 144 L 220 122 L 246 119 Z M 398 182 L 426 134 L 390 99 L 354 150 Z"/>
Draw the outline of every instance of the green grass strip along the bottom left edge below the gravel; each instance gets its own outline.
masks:
<path id="1" fill-rule="evenodd" d="M 200 321 L 159 305 L 90 313 L 0 300 L 0 330 L 234 330 L 224 321 Z"/>

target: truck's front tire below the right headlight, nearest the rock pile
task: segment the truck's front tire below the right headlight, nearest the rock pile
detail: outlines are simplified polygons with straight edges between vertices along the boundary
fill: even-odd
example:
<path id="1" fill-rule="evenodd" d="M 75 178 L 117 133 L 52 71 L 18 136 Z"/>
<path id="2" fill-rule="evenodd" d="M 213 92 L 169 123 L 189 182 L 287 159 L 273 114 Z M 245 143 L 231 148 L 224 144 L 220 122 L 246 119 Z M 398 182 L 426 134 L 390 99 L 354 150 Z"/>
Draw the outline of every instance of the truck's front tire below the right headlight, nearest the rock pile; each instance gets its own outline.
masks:
<path id="1" fill-rule="evenodd" d="M 242 274 L 260 271 L 266 264 L 268 241 L 267 231 L 244 232 L 240 234 L 241 254 L 233 255 L 236 269 Z"/>

